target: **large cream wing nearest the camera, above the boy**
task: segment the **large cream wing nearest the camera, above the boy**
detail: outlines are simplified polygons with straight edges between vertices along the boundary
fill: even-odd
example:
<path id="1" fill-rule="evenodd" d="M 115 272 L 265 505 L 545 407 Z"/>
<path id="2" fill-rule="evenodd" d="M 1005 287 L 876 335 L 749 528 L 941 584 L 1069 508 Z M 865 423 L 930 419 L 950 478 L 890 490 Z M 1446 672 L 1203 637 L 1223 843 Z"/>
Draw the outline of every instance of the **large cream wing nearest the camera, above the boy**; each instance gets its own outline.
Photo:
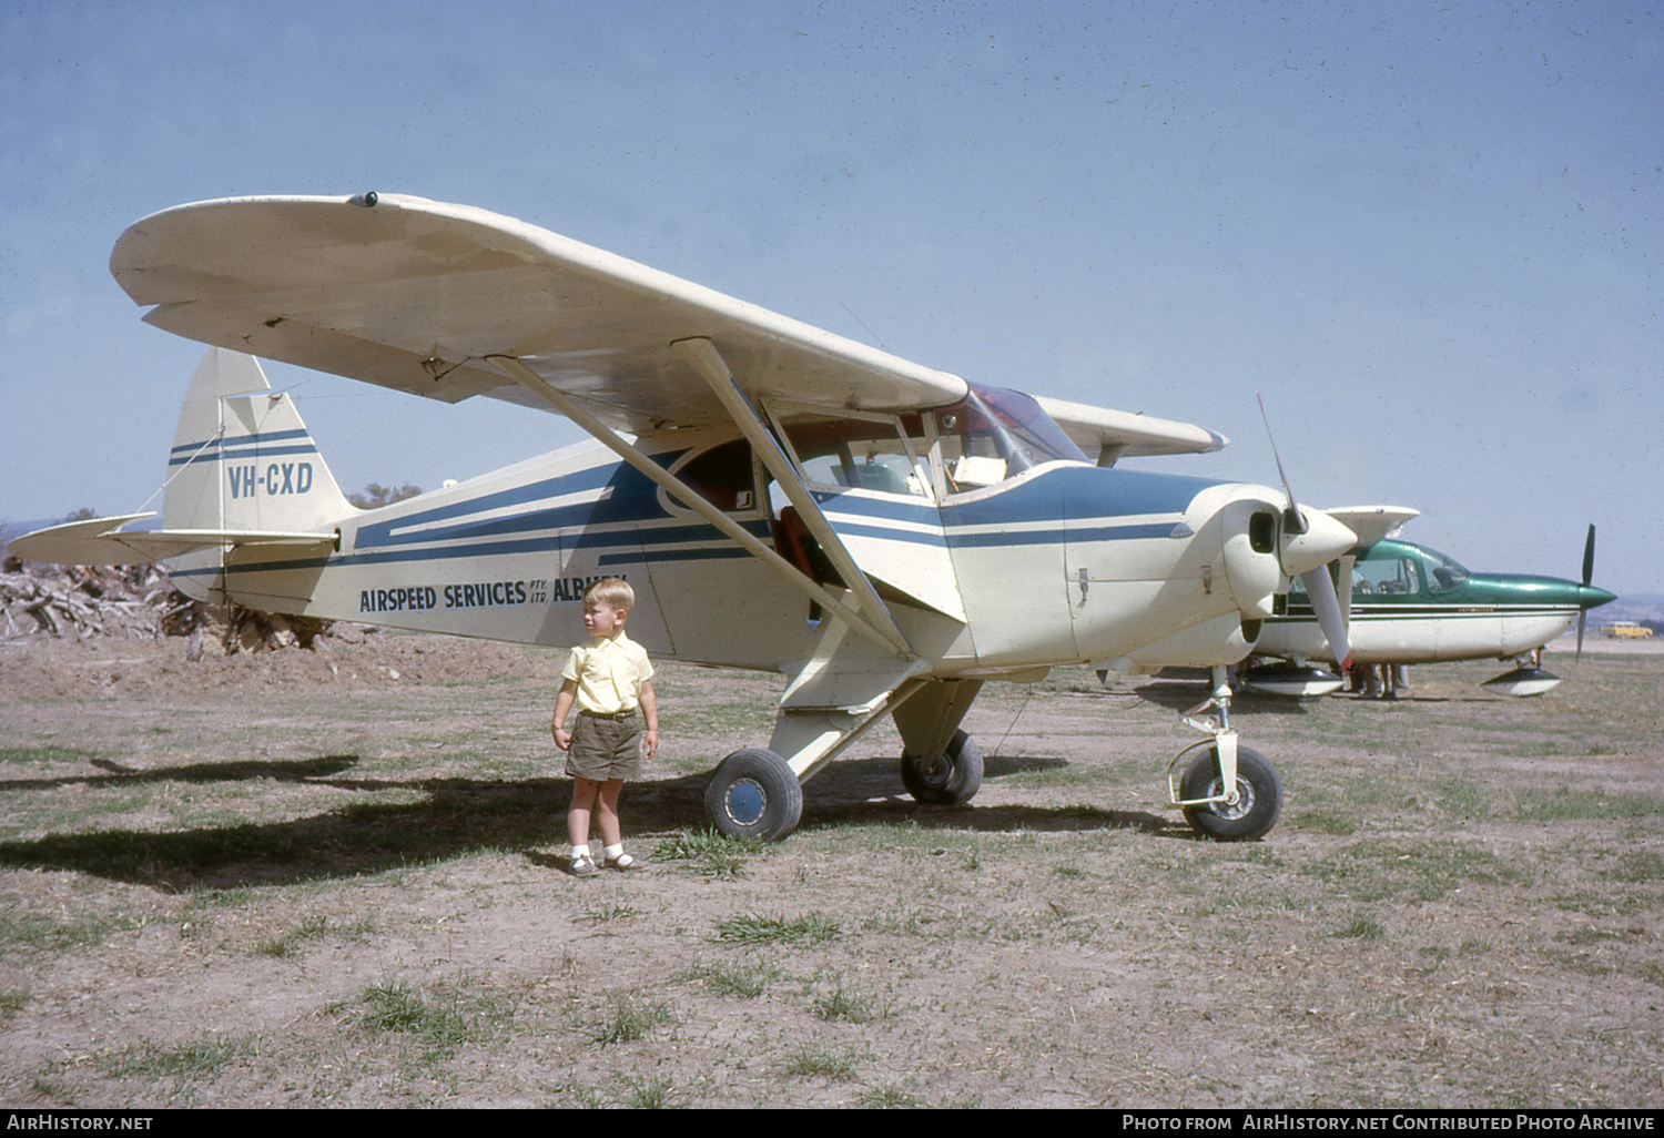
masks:
<path id="1" fill-rule="evenodd" d="M 110 271 L 158 328 L 446 403 L 547 409 L 513 356 L 617 431 L 727 423 L 676 341 L 712 341 L 754 401 L 935 408 L 958 376 L 471 206 L 403 195 L 231 198 L 135 221 Z"/>

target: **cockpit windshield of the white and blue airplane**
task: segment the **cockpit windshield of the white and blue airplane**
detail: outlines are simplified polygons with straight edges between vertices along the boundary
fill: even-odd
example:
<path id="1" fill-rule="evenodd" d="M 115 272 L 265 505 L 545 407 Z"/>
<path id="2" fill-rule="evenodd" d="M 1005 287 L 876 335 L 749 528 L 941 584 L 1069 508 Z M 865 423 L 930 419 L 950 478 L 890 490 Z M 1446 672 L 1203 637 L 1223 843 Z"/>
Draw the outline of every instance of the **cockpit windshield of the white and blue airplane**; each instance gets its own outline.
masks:
<path id="1" fill-rule="evenodd" d="M 935 413 L 942 461 L 958 489 L 992 486 L 1057 459 L 1085 463 L 1063 428 L 1020 391 L 972 388 L 963 403 Z"/>

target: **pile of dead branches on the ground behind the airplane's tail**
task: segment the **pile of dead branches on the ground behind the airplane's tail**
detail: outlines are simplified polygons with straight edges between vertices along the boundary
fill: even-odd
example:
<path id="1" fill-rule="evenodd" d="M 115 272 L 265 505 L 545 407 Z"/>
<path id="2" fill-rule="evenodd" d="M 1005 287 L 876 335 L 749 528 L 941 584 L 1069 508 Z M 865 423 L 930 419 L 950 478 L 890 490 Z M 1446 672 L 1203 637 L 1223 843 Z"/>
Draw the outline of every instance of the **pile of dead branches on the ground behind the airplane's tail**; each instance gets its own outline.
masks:
<path id="1" fill-rule="evenodd" d="M 28 636 L 188 639 L 186 657 L 313 647 L 329 621 L 191 601 L 160 566 L 48 566 L 7 557 L 0 571 L 0 641 Z"/>

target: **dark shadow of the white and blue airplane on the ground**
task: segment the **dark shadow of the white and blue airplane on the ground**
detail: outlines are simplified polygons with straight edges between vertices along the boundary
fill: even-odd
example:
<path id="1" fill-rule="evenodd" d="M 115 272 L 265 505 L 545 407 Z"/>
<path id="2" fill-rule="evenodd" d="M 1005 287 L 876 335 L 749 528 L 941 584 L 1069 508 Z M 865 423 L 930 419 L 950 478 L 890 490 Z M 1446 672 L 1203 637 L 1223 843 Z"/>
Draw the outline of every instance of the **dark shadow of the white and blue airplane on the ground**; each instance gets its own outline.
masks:
<path id="1" fill-rule="evenodd" d="M 0 842 L 0 868 L 70 870 L 170 892 L 250 885 L 295 885 L 351 878 L 399 867 L 443 862 L 483 850 L 524 855 L 536 865 L 564 868 L 549 850 L 566 844 L 566 777 L 522 780 L 351 779 L 356 755 L 306 760 L 200 762 L 133 770 L 103 762 L 108 774 L 0 782 L 0 794 L 65 785 L 120 787 L 140 782 L 256 782 L 276 779 L 339 790 L 414 790 L 421 802 L 348 802 L 286 822 L 205 825 L 190 830 L 97 830 Z M 1067 767 L 1062 759 L 1000 757 L 985 779 Z M 707 825 L 707 772 L 642 779 L 626 787 L 622 817 L 632 839 L 654 839 Z M 1142 830 L 1191 837 L 1173 815 L 1098 807 L 1025 807 L 975 802 L 927 807 L 902 789 L 894 759 L 834 764 L 804 785 L 800 829 L 839 825 L 917 825 L 942 830 Z"/>

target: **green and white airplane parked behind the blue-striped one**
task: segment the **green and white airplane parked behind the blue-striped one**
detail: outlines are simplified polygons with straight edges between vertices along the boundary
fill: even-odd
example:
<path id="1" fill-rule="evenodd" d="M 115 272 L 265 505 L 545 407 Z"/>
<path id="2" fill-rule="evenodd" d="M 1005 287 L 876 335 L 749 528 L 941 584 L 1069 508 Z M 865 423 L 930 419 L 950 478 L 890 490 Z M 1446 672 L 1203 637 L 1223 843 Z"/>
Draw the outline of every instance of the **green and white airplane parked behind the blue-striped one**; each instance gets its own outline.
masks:
<path id="1" fill-rule="evenodd" d="M 1346 517 L 1346 511 L 1330 512 Z M 1399 511 L 1403 521 L 1416 512 Z M 1511 670 L 1484 684 L 1503 695 L 1539 695 L 1559 684 L 1558 675 L 1543 670 L 1543 647 L 1576 621 L 1581 652 L 1589 609 L 1614 599 L 1589 584 L 1594 526 L 1584 544 L 1581 582 L 1471 572 L 1436 549 L 1396 537 L 1353 549 L 1331 564 L 1331 572 L 1336 582 L 1351 577 L 1351 591 L 1338 589 L 1346 609 L 1351 664 L 1513 659 Z M 1295 581 L 1288 594 L 1276 599 L 1243 679 L 1255 690 L 1278 695 L 1325 695 L 1341 687 L 1341 677 L 1311 667 L 1313 661 L 1333 664 L 1335 656 L 1303 582 Z"/>

